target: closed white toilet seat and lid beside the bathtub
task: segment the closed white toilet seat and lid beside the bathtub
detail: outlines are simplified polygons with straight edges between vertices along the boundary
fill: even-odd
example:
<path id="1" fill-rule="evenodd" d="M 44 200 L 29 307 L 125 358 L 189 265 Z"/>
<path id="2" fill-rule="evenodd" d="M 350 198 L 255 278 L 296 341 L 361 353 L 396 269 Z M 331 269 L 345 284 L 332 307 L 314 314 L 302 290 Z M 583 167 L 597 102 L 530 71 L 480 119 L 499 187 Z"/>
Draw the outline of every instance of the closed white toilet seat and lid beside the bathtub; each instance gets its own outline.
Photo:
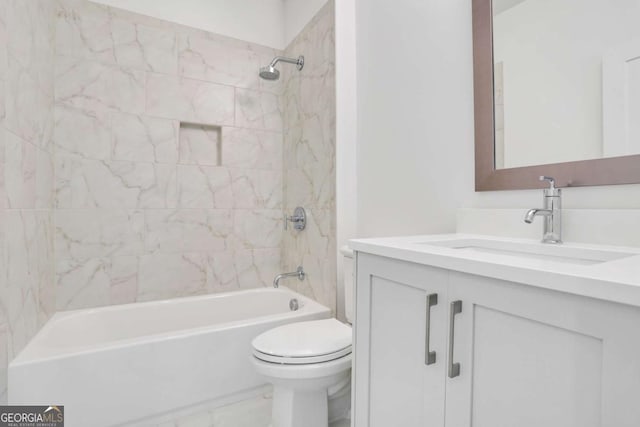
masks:
<path id="1" fill-rule="evenodd" d="M 336 319 L 290 323 L 258 335 L 253 349 L 270 362 L 324 362 L 351 353 L 351 328 Z"/>

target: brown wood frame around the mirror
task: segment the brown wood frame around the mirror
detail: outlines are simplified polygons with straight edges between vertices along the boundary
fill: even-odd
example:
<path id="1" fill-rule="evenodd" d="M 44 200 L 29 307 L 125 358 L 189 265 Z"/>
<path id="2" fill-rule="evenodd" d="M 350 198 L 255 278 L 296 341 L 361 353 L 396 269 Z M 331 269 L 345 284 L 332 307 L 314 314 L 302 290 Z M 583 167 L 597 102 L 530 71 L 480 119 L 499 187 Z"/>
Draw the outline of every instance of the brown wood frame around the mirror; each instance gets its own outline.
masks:
<path id="1" fill-rule="evenodd" d="M 640 183 L 640 155 L 496 169 L 492 0 L 472 2 L 476 191 L 543 188 L 541 175 L 558 187 Z"/>

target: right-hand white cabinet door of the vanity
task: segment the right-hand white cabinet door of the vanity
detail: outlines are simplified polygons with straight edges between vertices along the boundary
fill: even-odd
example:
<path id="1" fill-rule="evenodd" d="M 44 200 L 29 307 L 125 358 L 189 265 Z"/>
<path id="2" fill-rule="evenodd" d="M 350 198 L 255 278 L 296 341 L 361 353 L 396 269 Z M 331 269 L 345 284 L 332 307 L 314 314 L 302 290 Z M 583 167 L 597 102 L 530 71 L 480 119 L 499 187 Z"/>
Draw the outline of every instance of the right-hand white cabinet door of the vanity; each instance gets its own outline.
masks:
<path id="1" fill-rule="evenodd" d="M 640 425 L 639 311 L 451 272 L 448 427 Z"/>

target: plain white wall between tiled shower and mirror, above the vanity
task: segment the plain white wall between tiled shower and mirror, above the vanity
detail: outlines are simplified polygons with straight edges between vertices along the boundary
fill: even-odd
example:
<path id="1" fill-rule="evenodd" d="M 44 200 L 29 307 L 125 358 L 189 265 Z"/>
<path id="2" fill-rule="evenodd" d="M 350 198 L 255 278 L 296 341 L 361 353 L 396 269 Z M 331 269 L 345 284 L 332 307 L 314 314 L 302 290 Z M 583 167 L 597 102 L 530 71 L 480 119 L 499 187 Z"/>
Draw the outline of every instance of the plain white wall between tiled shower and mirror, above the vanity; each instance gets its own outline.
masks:
<path id="1" fill-rule="evenodd" d="M 471 1 L 357 0 L 356 19 L 359 234 L 449 232 L 459 207 L 538 206 L 539 190 L 473 190 Z M 640 185 L 563 197 L 640 208 Z"/>

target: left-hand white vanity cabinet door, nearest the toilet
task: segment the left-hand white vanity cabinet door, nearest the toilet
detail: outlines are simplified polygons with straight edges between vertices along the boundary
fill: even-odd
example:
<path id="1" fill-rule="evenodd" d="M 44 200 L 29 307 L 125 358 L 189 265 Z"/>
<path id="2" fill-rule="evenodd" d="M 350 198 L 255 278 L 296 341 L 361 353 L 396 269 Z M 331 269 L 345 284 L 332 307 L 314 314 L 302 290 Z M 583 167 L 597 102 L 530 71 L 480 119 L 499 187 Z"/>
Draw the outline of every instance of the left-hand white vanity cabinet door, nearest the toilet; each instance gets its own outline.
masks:
<path id="1" fill-rule="evenodd" d="M 358 254 L 355 426 L 444 426 L 447 275 Z"/>

